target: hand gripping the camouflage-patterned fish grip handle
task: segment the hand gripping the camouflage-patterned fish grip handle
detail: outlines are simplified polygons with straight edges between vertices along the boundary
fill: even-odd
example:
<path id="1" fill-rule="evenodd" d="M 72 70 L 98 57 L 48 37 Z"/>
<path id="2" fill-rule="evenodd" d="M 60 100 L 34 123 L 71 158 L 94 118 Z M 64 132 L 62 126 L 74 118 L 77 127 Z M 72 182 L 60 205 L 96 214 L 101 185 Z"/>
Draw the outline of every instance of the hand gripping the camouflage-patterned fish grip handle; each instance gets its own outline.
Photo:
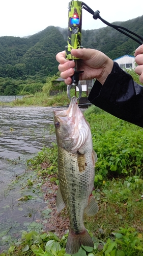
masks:
<path id="1" fill-rule="evenodd" d="M 77 71 L 84 71 L 79 74 L 79 80 L 89 80 L 96 78 L 103 84 L 107 76 L 111 73 L 113 61 L 104 53 L 94 49 L 72 49 L 71 53 L 77 60 Z M 75 62 L 65 59 L 65 51 L 56 55 L 56 60 L 60 63 L 59 71 L 66 84 L 71 84 L 71 76 L 74 74 Z"/>

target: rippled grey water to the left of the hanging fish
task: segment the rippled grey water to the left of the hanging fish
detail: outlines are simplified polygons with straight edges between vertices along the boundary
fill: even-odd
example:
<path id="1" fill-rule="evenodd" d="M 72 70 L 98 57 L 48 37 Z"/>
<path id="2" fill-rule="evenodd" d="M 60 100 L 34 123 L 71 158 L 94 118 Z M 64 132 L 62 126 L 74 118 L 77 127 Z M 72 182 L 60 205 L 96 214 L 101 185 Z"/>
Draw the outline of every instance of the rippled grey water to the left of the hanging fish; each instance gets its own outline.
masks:
<path id="1" fill-rule="evenodd" d="M 2 246 L 2 249 L 9 244 L 9 239 L 15 241 L 13 239 L 19 236 L 20 230 L 26 229 L 28 224 L 40 218 L 39 208 L 46 207 L 42 195 L 39 194 L 40 188 L 38 192 L 36 189 L 32 191 L 33 200 L 26 202 L 17 200 L 21 197 L 22 189 L 26 189 L 26 160 L 34 157 L 43 146 L 51 146 L 55 141 L 55 135 L 49 133 L 50 124 L 53 124 L 51 108 L 0 107 L 0 248 Z M 16 185 L 13 185 L 20 175 Z"/>

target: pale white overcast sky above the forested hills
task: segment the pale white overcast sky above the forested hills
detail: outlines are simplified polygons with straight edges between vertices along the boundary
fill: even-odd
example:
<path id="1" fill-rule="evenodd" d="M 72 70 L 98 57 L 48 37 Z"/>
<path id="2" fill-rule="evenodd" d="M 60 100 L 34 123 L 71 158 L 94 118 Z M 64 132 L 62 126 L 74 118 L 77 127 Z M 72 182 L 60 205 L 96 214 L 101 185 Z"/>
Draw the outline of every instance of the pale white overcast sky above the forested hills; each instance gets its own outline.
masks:
<path id="1" fill-rule="evenodd" d="M 108 22 L 126 21 L 143 14 L 142 0 L 83 0 Z M 0 36 L 27 36 L 48 26 L 68 27 L 68 0 L 0 0 Z M 105 27 L 83 9 L 82 29 Z"/>

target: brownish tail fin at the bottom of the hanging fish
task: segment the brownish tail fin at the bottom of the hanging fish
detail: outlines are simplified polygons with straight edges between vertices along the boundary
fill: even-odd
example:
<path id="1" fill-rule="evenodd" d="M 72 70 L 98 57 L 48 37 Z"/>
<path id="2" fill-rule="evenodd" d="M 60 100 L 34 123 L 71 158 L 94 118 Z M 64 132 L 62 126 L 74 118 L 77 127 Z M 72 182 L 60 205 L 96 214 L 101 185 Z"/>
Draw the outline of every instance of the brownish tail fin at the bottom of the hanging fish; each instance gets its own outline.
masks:
<path id="1" fill-rule="evenodd" d="M 94 248 L 94 243 L 87 231 L 84 229 L 80 233 L 74 232 L 71 228 L 69 229 L 68 241 L 66 245 L 66 253 L 73 254 L 78 252 L 80 246 L 90 246 Z"/>

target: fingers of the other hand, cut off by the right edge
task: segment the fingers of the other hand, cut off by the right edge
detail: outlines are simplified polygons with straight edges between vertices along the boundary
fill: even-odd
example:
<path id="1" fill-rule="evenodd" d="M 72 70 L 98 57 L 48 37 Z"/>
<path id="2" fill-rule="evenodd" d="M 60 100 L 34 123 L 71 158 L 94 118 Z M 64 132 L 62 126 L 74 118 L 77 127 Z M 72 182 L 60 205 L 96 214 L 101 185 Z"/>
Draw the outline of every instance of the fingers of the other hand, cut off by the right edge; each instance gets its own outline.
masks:
<path id="1" fill-rule="evenodd" d="M 135 72 L 139 75 L 139 81 L 143 83 L 143 45 L 135 50 L 134 56 L 135 62 L 138 64 L 135 68 Z"/>

